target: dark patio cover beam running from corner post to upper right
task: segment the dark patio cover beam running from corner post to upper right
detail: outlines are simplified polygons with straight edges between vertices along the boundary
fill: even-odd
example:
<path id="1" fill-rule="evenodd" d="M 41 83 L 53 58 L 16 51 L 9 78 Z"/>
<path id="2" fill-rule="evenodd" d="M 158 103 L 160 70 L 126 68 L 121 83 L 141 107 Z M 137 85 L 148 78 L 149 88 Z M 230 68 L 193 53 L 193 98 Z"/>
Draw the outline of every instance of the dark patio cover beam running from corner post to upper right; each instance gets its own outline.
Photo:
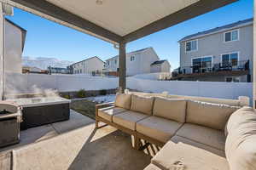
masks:
<path id="1" fill-rule="evenodd" d="M 213 9 L 223 7 L 229 3 L 234 3 L 237 0 L 200 0 L 197 3 L 193 3 L 186 8 L 183 8 L 176 13 L 170 14 L 160 20 L 156 20 L 148 26 L 133 31 L 126 35 L 124 38 L 125 42 L 132 42 L 141 37 L 148 36 L 154 32 L 161 31 L 170 26 L 177 25 L 185 20 L 192 19 L 200 14 L 205 14 L 212 11 Z"/>

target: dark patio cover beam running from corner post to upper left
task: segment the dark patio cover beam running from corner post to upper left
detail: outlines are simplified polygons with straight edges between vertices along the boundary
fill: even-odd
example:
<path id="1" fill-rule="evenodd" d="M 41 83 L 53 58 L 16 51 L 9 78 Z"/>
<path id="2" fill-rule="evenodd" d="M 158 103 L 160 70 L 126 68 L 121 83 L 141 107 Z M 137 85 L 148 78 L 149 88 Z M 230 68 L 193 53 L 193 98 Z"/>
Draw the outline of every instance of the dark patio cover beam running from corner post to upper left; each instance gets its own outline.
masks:
<path id="1" fill-rule="evenodd" d="M 106 38 L 107 41 L 110 40 L 109 42 L 119 43 L 122 40 L 122 37 L 113 33 L 112 31 L 108 31 L 107 29 L 102 28 L 101 26 L 97 26 L 96 24 L 90 22 L 89 20 L 85 20 L 79 17 L 78 15 L 72 14 L 67 10 L 60 8 L 45 0 L 11 0 L 6 2 L 7 3 L 14 2 L 26 8 L 32 8 L 33 10 L 36 10 L 42 14 L 49 15 L 50 17 L 53 17 L 57 20 L 67 22 L 73 26 L 77 26 L 80 29 L 83 29 L 84 31 L 88 31 L 87 33 L 89 33 L 92 36 L 103 37 L 102 39 Z"/>

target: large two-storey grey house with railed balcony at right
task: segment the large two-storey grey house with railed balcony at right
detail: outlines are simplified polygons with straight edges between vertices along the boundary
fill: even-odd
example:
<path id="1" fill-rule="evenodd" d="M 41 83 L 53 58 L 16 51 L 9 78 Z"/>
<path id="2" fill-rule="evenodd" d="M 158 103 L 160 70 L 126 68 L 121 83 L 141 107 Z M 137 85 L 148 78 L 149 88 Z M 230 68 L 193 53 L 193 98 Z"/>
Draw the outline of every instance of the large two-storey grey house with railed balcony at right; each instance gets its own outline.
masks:
<path id="1" fill-rule="evenodd" d="M 210 82 L 252 82 L 253 19 L 183 37 L 180 68 L 172 77 Z"/>

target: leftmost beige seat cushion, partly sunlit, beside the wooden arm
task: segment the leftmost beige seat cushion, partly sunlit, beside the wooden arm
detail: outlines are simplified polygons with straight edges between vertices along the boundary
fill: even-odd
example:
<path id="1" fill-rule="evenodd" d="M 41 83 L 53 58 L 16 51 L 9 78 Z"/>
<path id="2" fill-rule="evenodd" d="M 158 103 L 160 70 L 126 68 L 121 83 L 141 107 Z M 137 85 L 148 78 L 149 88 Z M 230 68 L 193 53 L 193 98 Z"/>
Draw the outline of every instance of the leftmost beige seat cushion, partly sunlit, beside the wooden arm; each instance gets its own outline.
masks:
<path id="1" fill-rule="evenodd" d="M 127 110 L 125 110 L 124 108 L 120 108 L 120 107 L 114 107 L 114 106 L 105 107 L 105 108 L 98 110 L 98 116 L 106 119 L 109 122 L 112 122 L 113 115 L 116 115 L 116 114 L 119 114 L 119 113 L 122 113 L 125 111 L 127 111 Z"/>

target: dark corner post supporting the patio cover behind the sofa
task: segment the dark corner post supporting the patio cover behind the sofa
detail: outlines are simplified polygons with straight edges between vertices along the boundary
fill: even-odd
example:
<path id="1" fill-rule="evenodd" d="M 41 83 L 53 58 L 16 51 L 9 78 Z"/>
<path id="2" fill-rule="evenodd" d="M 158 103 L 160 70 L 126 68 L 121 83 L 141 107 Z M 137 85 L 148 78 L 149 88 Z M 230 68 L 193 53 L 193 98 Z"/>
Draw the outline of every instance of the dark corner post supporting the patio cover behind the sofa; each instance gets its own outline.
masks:
<path id="1" fill-rule="evenodd" d="M 125 42 L 119 43 L 119 93 L 124 94 L 126 88 L 126 52 Z"/>

